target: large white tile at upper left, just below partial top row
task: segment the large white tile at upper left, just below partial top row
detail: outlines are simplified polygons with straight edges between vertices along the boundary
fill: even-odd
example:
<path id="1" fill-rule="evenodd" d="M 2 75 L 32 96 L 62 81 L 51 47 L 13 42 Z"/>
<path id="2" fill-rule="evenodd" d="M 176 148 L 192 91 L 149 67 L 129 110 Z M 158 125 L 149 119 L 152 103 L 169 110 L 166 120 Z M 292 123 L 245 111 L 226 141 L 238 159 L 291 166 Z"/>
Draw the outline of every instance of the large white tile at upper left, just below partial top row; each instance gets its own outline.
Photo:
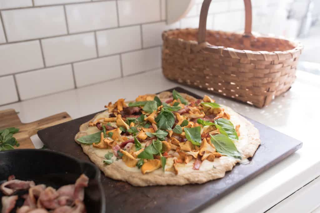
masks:
<path id="1" fill-rule="evenodd" d="M 2 11 L 9 42 L 67 34 L 63 6 Z"/>

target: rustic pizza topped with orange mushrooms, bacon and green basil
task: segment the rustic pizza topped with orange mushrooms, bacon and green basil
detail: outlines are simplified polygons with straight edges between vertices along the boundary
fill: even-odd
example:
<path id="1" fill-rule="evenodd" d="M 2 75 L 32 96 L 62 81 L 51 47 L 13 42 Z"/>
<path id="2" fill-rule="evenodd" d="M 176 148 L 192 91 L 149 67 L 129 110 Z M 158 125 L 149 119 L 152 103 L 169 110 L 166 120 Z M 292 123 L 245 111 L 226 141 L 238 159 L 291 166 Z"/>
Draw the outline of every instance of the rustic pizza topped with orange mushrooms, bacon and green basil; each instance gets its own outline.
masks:
<path id="1" fill-rule="evenodd" d="M 75 136 L 104 174 L 134 186 L 201 184 L 252 157 L 257 128 L 205 95 L 172 92 L 120 98 Z"/>

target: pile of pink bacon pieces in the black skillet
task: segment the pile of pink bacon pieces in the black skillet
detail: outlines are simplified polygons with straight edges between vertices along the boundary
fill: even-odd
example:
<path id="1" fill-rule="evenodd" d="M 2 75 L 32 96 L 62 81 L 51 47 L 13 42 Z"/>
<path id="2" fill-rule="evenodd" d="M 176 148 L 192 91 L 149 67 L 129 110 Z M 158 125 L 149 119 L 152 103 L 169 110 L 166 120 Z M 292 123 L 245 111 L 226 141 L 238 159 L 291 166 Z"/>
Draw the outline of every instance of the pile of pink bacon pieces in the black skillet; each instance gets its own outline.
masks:
<path id="1" fill-rule="evenodd" d="M 28 186 L 31 187 L 28 190 L 28 194 L 24 194 L 21 197 L 25 199 L 23 205 L 17 209 L 17 213 L 85 213 L 84 206 L 84 188 L 88 186 L 89 178 L 82 174 L 75 184 L 70 184 L 66 186 L 61 186 L 58 190 L 52 187 L 46 187 L 45 185 L 36 185 L 33 181 L 22 181 L 14 179 L 14 176 L 10 176 L 3 187 L 5 192 L 7 192 L 8 187 L 15 187 L 15 191 L 19 189 L 28 189 L 26 184 L 21 184 L 21 182 L 28 182 Z M 15 180 L 15 184 L 12 181 Z M 20 181 L 20 182 L 17 182 Z M 9 184 L 8 184 L 9 183 Z M 30 184 L 31 183 L 31 184 Z M 1 185 L 1 186 L 2 186 Z M 11 189 L 11 188 L 9 188 Z M 12 190 L 12 189 L 11 189 Z M 15 192 L 14 191 L 14 192 Z M 14 193 L 13 192 L 13 193 Z M 18 195 L 13 196 L 3 196 L 2 197 L 2 210 L 1 213 L 10 213 L 16 205 L 16 200 Z"/>

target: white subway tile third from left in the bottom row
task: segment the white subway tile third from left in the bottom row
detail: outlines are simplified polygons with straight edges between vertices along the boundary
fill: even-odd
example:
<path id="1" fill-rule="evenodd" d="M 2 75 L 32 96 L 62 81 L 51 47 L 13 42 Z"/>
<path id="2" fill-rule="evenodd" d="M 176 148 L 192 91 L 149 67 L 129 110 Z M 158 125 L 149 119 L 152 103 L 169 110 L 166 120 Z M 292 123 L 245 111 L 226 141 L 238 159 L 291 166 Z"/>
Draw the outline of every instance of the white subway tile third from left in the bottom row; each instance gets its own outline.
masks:
<path id="1" fill-rule="evenodd" d="M 121 77 L 119 55 L 75 63 L 73 68 L 77 87 Z"/>

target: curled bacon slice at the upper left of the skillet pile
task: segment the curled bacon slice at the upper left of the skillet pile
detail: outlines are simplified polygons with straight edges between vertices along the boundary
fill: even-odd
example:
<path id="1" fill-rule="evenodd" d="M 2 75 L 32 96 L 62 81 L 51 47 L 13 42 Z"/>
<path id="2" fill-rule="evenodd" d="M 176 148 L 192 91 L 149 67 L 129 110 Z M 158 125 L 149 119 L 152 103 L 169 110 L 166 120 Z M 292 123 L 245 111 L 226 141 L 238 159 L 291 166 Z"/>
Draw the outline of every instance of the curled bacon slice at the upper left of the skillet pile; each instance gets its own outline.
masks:
<path id="1" fill-rule="evenodd" d="M 5 195 L 12 195 L 17 190 L 28 189 L 32 186 L 35 186 L 35 182 L 33 181 L 11 179 L 1 184 L 0 189 Z"/>

